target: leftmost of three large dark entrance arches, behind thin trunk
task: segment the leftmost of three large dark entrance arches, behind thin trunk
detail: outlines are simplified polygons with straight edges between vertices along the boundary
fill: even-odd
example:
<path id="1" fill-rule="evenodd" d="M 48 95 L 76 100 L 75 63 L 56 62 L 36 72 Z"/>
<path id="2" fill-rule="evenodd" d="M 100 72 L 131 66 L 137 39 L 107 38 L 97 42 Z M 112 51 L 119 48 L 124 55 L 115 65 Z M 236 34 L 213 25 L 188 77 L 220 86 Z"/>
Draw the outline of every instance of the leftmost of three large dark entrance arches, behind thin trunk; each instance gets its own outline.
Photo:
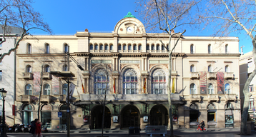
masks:
<path id="1" fill-rule="evenodd" d="M 91 127 L 92 129 L 102 128 L 102 116 L 103 116 L 103 106 L 96 106 L 92 110 Z M 109 108 L 105 107 L 104 115 L 104 128 L 110 128 L 111 126 L 111 113 Z"/>

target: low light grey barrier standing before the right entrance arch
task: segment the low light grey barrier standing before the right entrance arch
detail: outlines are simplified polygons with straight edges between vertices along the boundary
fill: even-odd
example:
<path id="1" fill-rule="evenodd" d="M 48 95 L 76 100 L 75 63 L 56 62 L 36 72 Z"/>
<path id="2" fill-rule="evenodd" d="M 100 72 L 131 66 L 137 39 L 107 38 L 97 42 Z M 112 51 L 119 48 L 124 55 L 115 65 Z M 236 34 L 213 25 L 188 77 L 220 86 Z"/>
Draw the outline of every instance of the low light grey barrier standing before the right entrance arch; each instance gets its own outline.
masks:
<path id="1" fill-rule="evenodd" d="M 146 126 L 146 130 L 145 132 L 150 136 L 152 136 L 153 134 L 160 134 L 165 136 L 165 134 L 167 134 L 167 128 L 166 126 Z"/>

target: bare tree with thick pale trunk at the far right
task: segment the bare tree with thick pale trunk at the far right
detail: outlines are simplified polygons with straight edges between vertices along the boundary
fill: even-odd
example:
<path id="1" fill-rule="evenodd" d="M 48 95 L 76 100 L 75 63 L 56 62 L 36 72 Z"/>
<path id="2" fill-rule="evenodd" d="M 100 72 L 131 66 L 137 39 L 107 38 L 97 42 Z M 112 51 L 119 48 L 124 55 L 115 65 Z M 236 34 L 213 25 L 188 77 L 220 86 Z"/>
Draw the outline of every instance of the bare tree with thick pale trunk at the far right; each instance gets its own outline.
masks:
<path id="1" fill-rule="evenodd" d="M 211 0 L 205 1 L 207 7 L 201 14 L 202 23 L 205 26 L 214 26 L 216 36 L 227 36 L 229 34 L 239 34 L 245 32 L 245 35 L 252 39 L 252 54 L 256 66 L 256 1 L 255 0 Z M 214 24 L 212 24 L 214 22 Z M 242 121 L 240 133 L 247 134 L 247 115 L 251 93 L 249 85 L 252 78 L 255 77 L 256 68 L 247 78 L 243 93 L 245 96 L 244 106 L 242 108 Z"/>

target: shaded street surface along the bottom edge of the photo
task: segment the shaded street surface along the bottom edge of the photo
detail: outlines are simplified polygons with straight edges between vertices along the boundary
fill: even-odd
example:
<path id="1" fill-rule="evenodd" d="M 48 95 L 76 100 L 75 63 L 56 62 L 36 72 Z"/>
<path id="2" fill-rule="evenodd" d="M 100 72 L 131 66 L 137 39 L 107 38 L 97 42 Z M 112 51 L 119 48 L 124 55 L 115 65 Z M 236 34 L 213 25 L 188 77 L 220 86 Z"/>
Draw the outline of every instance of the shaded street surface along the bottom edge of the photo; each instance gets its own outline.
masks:
<path id="1" fill-rule="evenodd" d="M 61 136 L 67 136 L 67 133 L 43 133 L 44 137 L 61 137 Z M 101 133 L 71 133 L 71 136 L 75 137 L 82 137 L 82 136 L 88 136 L 88 137 L 96 137 L 100 136 Z M 174 135 L 177 137 L 189 137 L 189 136 L 197 136 L 197 137 L 240 137 L 239 131 L 207 131 L 207 132 L 200 132 L 197 133 L 195 131 L 174 131 Z M 250 136 L 255 136 L 250 135 Z M 31 137 L 31 134 L 29 133 L 8 133 L 9 137 Z M 117 133 L 104 133 L 104 136 L 109 137 L 117 137 L 117 136 L 128 136 L 127 131 L 119 131 Z M 147 136 L 146 133 L 142 132 L 141 136 Z M 159 136 L 159 135 L 158 135 Z M 133 135 L 132 137 L 137 137 L 137 135 Z"/>

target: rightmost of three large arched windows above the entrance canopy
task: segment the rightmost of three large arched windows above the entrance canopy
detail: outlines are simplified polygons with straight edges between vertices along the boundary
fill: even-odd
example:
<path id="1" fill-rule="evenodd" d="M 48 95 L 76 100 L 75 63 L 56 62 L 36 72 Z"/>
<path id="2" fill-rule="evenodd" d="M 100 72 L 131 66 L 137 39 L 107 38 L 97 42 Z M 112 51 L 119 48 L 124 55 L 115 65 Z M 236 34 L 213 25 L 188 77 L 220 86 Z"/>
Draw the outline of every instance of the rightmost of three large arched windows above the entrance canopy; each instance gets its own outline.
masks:
<path id="1" fill-rule="evenodd" d="M 152 73 L 152 94 L 166 93 L 166 76 L 162 69 L 156 69 Z"/>

